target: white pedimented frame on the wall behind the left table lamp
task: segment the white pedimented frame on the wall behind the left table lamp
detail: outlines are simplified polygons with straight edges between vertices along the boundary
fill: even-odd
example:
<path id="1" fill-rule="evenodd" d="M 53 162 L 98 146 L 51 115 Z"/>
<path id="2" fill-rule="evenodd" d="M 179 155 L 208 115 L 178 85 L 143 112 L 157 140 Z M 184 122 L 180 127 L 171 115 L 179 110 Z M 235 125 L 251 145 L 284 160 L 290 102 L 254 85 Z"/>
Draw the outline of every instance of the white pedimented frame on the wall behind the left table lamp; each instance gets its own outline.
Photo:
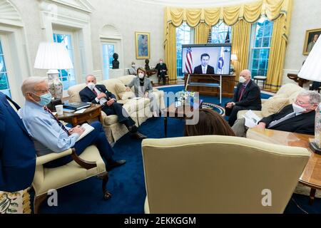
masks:
<path id="1" fill-rule="evenodd" d="M 46 41 L 53 42 L 53 31 L 70 31 L 76 46 L 76 82 L 81 83 L 93 71 L 91 44 L 91 12 L 87 0 L 39 0 L 41 28 Z"/>

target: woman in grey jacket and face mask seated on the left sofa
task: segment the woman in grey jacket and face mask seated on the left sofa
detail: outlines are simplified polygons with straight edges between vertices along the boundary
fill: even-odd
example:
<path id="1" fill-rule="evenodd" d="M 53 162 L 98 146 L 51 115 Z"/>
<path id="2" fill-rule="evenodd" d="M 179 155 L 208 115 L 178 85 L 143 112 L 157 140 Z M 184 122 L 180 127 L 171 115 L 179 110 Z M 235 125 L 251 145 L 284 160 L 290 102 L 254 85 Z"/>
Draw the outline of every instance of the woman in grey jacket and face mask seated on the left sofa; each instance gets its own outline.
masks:
<path id="1" fill-rule="evenodd" d="M 153 116 L 158 117 L 159 108 L 155 95 L 153 94 L 151 79 L 146 77 L 146 70 L 142 67 L 137 69 L 137 75 L 138 76 L 127 85 L 126 91 L 130 91 L 133 87 L 137 98 L 149 98 L 151 100 L 151 111 L 153 112 Z"/>

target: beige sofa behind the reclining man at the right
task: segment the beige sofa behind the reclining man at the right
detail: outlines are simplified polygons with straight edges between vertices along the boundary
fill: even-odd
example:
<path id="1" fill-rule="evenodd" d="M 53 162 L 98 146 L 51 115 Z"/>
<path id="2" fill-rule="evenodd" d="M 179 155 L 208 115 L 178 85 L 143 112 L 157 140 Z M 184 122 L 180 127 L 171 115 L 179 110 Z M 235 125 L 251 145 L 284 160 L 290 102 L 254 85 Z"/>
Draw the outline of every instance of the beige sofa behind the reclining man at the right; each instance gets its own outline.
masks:
<path id="1" fill-rule="evenodd" d="M 265 118 L 274 113 L 278 113 L 286 105 L 292 104 L 297 98 L 297 95 L 304 90 L 305 90 L 304 88 L 297 86 L 296 84 L 292 84 L 292 83 L 285 84 L 271 98 L 262 99 L 262 110 L 253 111 L 253 113 L 258 115 L 258 117 L 260 118 Z M 243 115 L 247 111 L 248 110 L 239 111 L 238 119 L 243 118 Z"/>

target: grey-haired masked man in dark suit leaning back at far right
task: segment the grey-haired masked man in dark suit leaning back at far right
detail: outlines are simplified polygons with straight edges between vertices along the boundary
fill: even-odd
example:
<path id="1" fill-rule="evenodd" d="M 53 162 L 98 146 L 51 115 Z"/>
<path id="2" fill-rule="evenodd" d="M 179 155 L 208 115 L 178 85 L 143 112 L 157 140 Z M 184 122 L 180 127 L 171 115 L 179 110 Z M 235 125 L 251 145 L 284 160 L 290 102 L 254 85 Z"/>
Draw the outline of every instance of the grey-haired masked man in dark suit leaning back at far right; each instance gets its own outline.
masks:
<path id="1" fill-rule="evenodd" d="M 321 101 L 320 94 L 315 91 L 303 91 L 297 95 L 295 103 L 282 108 L 279 113 L 272 114 L 259 121 L 256 128 L 282 130 L 290 133 L 307 135 L 315 134 L 315 109 Z M 236 136 L 245 137 L 248 127 L 245 118 L 236 120 L 232 127 Z"/>

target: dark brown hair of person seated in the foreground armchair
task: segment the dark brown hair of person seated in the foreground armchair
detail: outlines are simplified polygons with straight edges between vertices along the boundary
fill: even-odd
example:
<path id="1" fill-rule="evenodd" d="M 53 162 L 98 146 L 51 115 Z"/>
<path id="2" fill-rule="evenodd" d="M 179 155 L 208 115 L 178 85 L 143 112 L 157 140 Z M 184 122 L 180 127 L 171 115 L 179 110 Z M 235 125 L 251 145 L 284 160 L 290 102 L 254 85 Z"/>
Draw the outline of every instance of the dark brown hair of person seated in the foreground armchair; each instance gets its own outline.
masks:
<path id="1" fill-rule="evenodd" d="M 195 125 L 185 125 L 185 136 L 228 135 L 235 136 L 228 122 L 211 109 L 200 109 L 200 118 Z"/>

